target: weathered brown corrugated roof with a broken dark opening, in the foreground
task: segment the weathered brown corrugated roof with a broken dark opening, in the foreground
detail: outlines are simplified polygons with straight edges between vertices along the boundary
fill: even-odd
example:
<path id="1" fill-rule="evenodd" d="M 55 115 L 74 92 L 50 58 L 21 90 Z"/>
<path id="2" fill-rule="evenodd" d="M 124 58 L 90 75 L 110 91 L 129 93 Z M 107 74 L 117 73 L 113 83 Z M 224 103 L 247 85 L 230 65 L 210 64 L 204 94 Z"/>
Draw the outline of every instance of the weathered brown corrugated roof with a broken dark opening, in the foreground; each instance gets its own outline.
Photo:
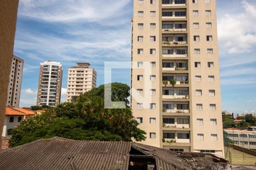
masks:
<path id="1" fill-rule="evenodd" d="M 0 169 L 229 169 L 212 154 L 176 153 L 135 142 L 75 141 L 53 137 L 9 148 Z"/>

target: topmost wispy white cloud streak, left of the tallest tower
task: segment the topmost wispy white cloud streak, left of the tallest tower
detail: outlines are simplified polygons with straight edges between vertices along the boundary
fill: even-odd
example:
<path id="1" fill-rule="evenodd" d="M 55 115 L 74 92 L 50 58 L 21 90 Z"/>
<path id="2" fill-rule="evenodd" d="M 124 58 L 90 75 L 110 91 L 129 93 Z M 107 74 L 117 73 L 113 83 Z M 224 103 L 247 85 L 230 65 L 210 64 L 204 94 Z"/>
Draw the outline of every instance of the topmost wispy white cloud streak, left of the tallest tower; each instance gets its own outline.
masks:
<path id="1" fill-rule="evenodd" d="M 130 0 L 21 0 L 19 15 L 46 22 L 96 21 L 108 18 Z"/>

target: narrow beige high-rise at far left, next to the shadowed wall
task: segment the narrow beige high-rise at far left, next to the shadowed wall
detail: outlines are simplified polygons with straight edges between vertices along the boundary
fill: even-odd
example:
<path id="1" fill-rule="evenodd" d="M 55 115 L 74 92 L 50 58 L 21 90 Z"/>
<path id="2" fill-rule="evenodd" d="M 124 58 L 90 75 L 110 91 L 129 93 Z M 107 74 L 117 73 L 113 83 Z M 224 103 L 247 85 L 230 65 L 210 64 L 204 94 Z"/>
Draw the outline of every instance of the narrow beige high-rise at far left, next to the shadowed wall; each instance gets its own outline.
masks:
<path id="1" fill-rule="evenodd" d="M 24 60 L 13 55 L 6 105 L 19 107 Z"/>

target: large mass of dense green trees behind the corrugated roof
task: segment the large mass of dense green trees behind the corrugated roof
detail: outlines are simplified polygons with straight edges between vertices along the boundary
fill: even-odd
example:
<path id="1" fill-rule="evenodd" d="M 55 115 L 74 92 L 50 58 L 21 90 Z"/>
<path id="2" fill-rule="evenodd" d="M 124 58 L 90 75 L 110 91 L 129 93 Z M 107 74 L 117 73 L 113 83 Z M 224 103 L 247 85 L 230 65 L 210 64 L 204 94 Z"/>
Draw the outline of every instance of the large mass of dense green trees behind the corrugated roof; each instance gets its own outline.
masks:
<path id="1" fill-rule="evenodd" d="M 74 97 L 71 103 L 61 103 L 40 116 L 21 122 L 14 128 L 10 146 L 37 139 L 64 137 L 93 141 L 142 141 L 146 137 L 137 128 L 138 122 L 127 106 L 129 86 L 112 83 L 112 101 L 125 101 L 125 109 L 104 108 L 104 85 Z"/>

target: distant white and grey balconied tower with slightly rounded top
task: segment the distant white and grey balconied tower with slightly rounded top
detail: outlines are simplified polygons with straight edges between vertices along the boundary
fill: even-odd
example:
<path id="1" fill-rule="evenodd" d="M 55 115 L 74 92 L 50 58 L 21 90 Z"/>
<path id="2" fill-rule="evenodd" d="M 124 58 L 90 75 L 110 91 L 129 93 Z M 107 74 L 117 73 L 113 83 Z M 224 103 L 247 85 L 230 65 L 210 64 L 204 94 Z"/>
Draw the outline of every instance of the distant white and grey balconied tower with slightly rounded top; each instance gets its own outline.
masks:
<path id="1" fill-rule="evenodd" d="M 40 63 L 38 97 L 36 105 L 55 107 L 60 103 L 62 84 L 62 65 L 59 62 Z"/>

